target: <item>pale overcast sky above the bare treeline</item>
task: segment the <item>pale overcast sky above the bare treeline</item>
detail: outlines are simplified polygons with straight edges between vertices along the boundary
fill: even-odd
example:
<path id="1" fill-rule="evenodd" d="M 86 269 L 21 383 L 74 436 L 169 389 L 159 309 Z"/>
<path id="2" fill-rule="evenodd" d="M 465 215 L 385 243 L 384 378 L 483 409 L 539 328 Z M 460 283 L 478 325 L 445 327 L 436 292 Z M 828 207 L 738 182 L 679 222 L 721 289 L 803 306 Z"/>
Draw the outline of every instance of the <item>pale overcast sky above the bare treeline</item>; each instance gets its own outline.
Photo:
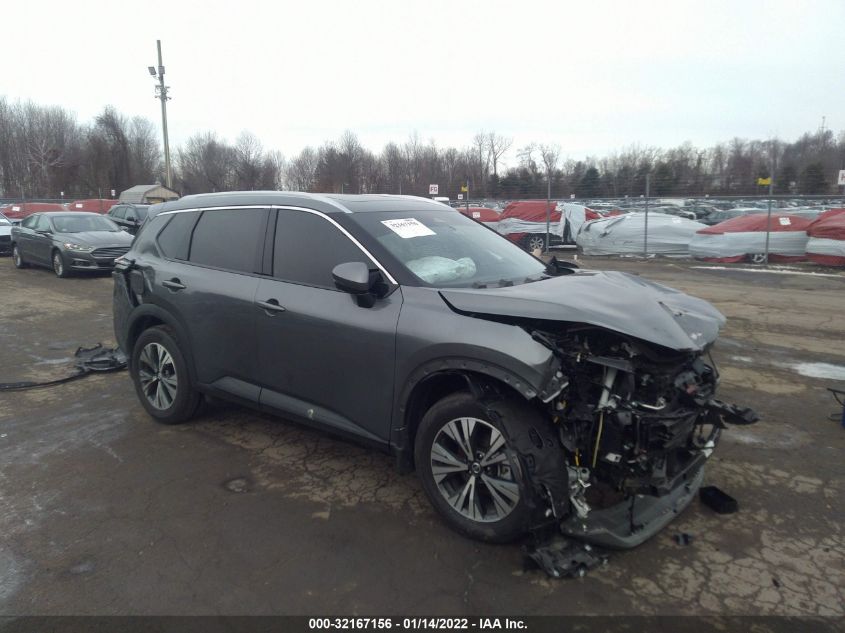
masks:
<path id="1" fill-rule="evenodd" d="M 791 140 L 825 115 L 845 129 L 844 0 L 18 0 L 2 23 L 0 94 L 82 121 L 111 104 L 160 125 L 161 39 L 171 146 L 250 130 L 291 156 L 346 129 L 373 150 L 492 130 L 582 158 Z"/>

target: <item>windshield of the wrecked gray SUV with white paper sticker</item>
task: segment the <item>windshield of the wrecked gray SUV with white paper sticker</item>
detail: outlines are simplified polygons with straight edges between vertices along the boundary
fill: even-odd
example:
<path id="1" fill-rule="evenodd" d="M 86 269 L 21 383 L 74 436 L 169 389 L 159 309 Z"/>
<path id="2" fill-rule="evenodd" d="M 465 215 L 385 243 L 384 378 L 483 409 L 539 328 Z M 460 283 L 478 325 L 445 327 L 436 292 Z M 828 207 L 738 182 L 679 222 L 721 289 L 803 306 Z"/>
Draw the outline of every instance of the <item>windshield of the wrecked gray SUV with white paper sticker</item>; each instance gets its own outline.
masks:
<path id="1" fill-rule="evenodd" d="M 456 211 L 356 213 L 353 219 L 424 284 L 484 288 L 545 276 L 542 262 Z"/>

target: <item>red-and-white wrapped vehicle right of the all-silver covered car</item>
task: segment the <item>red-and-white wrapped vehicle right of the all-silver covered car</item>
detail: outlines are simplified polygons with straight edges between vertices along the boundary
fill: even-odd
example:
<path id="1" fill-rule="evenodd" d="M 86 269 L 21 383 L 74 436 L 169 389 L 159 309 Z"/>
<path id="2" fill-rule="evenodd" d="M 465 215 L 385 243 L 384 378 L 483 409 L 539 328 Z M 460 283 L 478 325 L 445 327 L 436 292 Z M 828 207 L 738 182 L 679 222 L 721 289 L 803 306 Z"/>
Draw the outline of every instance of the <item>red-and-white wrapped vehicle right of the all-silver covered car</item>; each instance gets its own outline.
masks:
<path id="1" fill-rule="evenodd" d="M 690 255 L 708 262 L 765 261 L 767 214 L 742 215 L 696 232 Z M 769 222 L 769 261 L 806 259 L 810 220 L 797 215 L 773 214 Z"/>

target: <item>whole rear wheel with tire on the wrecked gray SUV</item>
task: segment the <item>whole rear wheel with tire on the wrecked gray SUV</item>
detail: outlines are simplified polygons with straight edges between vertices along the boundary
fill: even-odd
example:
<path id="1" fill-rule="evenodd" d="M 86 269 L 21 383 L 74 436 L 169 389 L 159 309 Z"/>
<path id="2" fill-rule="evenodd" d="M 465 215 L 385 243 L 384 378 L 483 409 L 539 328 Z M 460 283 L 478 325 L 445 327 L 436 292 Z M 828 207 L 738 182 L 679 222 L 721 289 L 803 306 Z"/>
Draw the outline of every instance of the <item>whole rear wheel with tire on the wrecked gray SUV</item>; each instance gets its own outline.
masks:
<path id="1" fill-rule="evenodd" d="M 157 422 L 178 424 L 197 412 L 200 394 L 191 384 L 185 356 L 170 328 L 144 330 L 132 349 L 129 369 L 138 399 Z"/>

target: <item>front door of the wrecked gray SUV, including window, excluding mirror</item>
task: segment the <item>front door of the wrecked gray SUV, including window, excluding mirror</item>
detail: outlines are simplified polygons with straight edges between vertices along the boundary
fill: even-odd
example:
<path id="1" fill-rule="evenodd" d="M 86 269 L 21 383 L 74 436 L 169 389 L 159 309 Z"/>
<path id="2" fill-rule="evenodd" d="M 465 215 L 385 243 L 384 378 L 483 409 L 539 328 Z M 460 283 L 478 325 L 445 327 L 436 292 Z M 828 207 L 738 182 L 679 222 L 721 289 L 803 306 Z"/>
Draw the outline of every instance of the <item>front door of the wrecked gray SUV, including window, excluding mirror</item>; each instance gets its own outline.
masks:
<path id="1" fill-rule="evenodd" d="M 262 405 L 386 442 L 401 291 L 364 308 L 337 290 L 337 264 L 378 267 L 323 214 L 279 209 L 273 228 L 272 278 L 259 281 L 255 309 Z"/>

